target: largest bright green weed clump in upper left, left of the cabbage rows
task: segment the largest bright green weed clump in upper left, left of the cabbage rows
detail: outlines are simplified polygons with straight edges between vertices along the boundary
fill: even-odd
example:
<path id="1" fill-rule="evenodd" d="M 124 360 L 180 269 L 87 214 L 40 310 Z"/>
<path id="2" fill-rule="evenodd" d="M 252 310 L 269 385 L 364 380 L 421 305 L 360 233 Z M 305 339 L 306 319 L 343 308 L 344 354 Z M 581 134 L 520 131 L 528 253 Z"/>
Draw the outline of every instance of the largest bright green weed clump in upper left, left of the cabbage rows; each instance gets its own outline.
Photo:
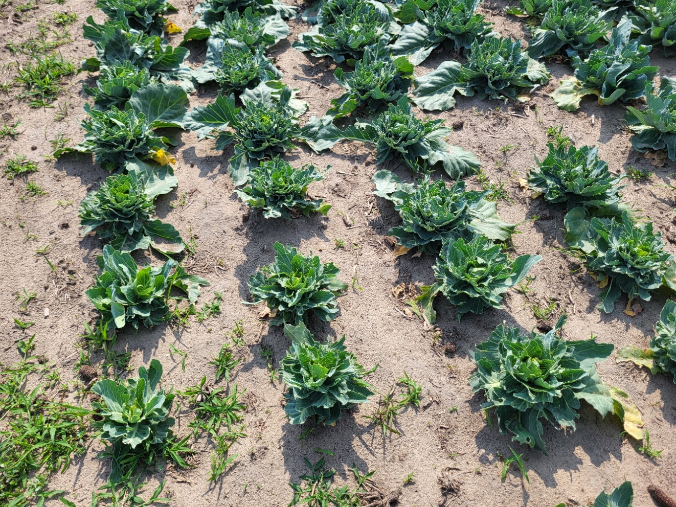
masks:
<path id="1" fill-rule="evenodd" d="M 64 89 L 63 79 L 75 73 L 76 68 L 62 55 L 36 57 L 17 69 L 16 82 L 26 88 L 20 99 L 30 99 L 30 107 L 47 107 Z"/>

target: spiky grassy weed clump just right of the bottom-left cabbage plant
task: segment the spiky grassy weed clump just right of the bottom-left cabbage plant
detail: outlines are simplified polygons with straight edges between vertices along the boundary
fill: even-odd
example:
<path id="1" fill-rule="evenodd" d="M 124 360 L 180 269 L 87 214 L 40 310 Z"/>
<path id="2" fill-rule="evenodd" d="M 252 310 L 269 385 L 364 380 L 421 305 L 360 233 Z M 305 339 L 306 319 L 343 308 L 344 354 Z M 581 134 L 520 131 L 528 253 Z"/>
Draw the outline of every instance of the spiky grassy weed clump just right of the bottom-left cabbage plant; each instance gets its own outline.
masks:
<path id="1" fill-rule="evenodd" d="M 214 438 L 218 437 L 218 430 L 225 425 L 228 431 L 232 431 L 233 423 L 239 423 L 243 416 L 242 412 L 247 406 L 239 401 L 239 397 L 246 392 L 237 392 L 237 384 L 229 395 L 225 395 L 226 388 L 210 387 L 206 383 L 207 378 L 202 377 L 199 385 L 189 387 L 185 391 L 178 391 L 183 397 L 187 397 L 195 410 L 195 419 L 188 425 L 197 431 L 208 431 Z"/>

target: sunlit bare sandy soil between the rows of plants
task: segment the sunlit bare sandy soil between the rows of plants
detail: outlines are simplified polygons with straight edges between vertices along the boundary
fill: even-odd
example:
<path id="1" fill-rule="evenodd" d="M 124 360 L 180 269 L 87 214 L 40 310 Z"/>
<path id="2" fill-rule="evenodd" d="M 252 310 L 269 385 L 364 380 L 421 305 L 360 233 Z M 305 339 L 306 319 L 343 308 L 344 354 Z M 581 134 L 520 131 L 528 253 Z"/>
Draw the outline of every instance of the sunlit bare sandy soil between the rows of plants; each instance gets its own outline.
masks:
<path id="1" fill-rule="evenodd" d="M 178 14 L 170 19 L 186 30 L 192 24 L 195 1 L 179 0 L 174 5 Z M 504 1 L 486 1 L 480 10 L 496 24 L 500 34 L 528 39 L 522 22 L 502 14 L 506 5 Z M 14 16 L 14 7 L 16 5 L 11 4 L 2 7 L 5 16 L 0 18 L 0 47 L 28 37 L 41 18 L 67 11 L 76 13 L 78 21 L 70 27 L 72 42 L 60 47 L 60 51 L 77 65 L 80 59 L 93 55 L 93 48 L 82 39 L 80 28 L 89 15 L 97 22 L 105 20 L 93 1 L 67 0 L 64 5 L 40 2 L 37 9 L 22 12 L 20 16 Z M 289 39 L 281 41 L 269 53 L 283 71 L 283 81 L 298 88 L 300 97 L 310 103 L 305 118 L 321 116 L 331 98 L 341 94 L 341 87 L 333 80 L 335 64 L 331 59 L 316 59 L 292 49 L 291 43 L 297 34 L 309 28 L 301 20 L 291 20 L 289 26 L 292 30 Z M 180 37 L 180 34 L 172 37 L 172 45 L 178 45 Z M 190 49 L 190 62 L 203 62 L 203 46 L 195 44 Z M 434 53 L 428 62 L 416 68 L 416 74 L 425 74 L 443 60 L 454 57 L 456 55 L 445 52 Z M 10 81 L 16 74 L 16 67 L 7 64 L 25 61 L 7 49 L 0 51 L 0 59 L 0 82 Z M 676 75 L 676 60 L 662 58 L 658 51 L 653 51 L 651 62 L 660 66 L 660 74 Z M 614 343 L 616 347 L 628 344 L 645 347 L 667 295 L 654 296 L 644 304 L 644 312 L 635 317 L 622 312 L 625 299 L 619 301 L 614 313 L 600 314 L 595 310 L 599 289 L 594 281 L 584 269 L 579 269 L 574 258 L 558 250 L 565 246 L 562 210 L 531 199 L 529 193 L 519 187 L 518 177 L 523 177 L 533 166 L 533 155 L 540 158 L 545 155 L 546 128 L 562 124 L 564 134 L 577 146 L 598 146 L 600 157 L 608 162 L 612 171 L 623 172 L 633 166 L 654 172 L 649 180 L 639 183 L 626 180 L 624 200 L 635 203 L 646 218 L 654 221 L 656 228 L 669 239 L 667 249 L 673 253 L 674 197 L 673 189 L 665 185 L 673 183 L 675 164 L 669 162 L 667 166 L 654 168 L 649 160 L 631 149 L 629 135 L 621 129 L 625 111 L 621 103 L 600 107 L 587 98 L 575 114 L 558 110 L 548 94 L 557 87 L 558 80 L 572 74 L 572 69 L 555 62 L 548 63 L 548 68 L 552 80 L 536 91 L 529 110 L 515 110 L 512 104 L 499 101 L 460 97 L 455 110 L 431 116 L 444 118 L 447 124 L 456 126 L 462 122 L 462 128 L 453 132 L 449 142 L 477 153 L 485 174 L 494 182 L 506 182 L 509 200 L 499 203 L 498 212 L 506 222 L 521 222 L 519 234 L 514 235 L 515 254 L 544 257 L 544 262 L 531 270 L 536 276 L 531 287 L 537 291 L 535 297 L 555 298 L 560 309 L 568 314 L 564 335 L 569 339 L 585 339 L 593 333 L 599 341 Z M 19 359 L 15 345 L 24 333 L 16 329 L 12 318 L 19 316 L 14 294 L 25 287 L 38 293 L 29 306 L 30 315 L 24 316 L 24 320 L 35 322 L 28 331 L 36 335 L 36 352 L 46 354 L 55 362 L 64 381 L 75 378 L 72 368 L 78 358 L 78 335 L 83 332 L 83 322 L 95 316 L 84 290 L 93 283 L 97 272 L 95 256 L 101 251 L 98 239 L 80 237 L 77 206 L 107 173 L 89 157 L 69 156 L 54 164 L 43 160 L 43 155 L 51 152 L 49 139 L 59 132 L 74 142 L 82 139 L 79 122 L 84 118 L 82 105 L 87 98 L 82 93 L 82 82 L 94 81 L 95 76 L 86 73 L 73 76 L 68 80 L 66 91 L 55 101 L 54 105 L 59 106 L 56 108 L 30 109 L 26 101 L 16 98 L 20 93 L 16 87 L 9 96 L 0 95 L 0 113 L 5 114 L 5 118 L 20 118 L 23 123 L 22 133 L 16 139 L 0 139 L 0 166 L 13 153 L 39 161 L 41 170 L 30 175 L 30 180 L 49 192 L 22 201 L 24 182 L 0 179 L 3 195 L 0 205 L 0 360 L 11 364 Z M 215 89 L 201 87 L 197 94 L 191 95 L 191 106 L 209 103 L 215 96 Z M 414 110 L 419 117 L 426 116 Z M 68 115 L 57 121 L 57 114 L 64 111 Z M 498 149 L 509 144 L 517 148 L 504 157 Z M 504 310 L 489 310 L 478 316 L 467 314 L 462 322 L 456 322 L 454 309 L 440 298 L 437 325 L 442 338 L 433 343 L 433 333 L 424 331 L 418 318 L 407 316 L 392 292 L 400 283 L 418 286 L 431 283 L 433 258 L 409 255 L 395 259 L 384 245 L 383 237 L 390 226 L 397 224 L 398 218 L 390 203 L 371 194 L 370 178 L 376 166 L 369 147 L 343 143 L 337 145 L 334 152 L 322 155 L 307 149 L 288 153 L 287 160 L 297 165 L 308 162 L 321 168 L 331 165 L 327 180 L 310 189 L 313 195 L 321 196 L 333 206 L 329 216 L 292 222 L 264 220 L 256 212 L 251 212 L 248 219 L 243 218 L 247 208 L 233 193 L 227 174 L 231 153 L 216 152 L 212 148 L 213 141 L 198 143 L 192 132 L 183 132 L 180 144 L 172 150 L 177 159 L 178 189 L 160 197 L 158 215 L 174 224 L 183 237 L 190 237 L 192 233 L 196 238 L 197 251 L 185 264 L 211 283 L 203 290 L 200 302 L 212 299 L 214 291 L 223 293 L 222 314 L 203 324 L 193 321 L 189 327 L 166 325 L 141 329 L 137 334 L 125 331 L 115 347 L 118 352 L 132 353 L 133 372 L 152 358 L 158 358 L 164 365 L 164 384 L 183 389 L 198 383 L 204 375 L 212 378 L 214 370 L 208 361 L 226 340 L 225 333 L 233 328 L 236 320 L 243 319 L 247 345 L 240 349 L 244 359 L 231 383 L 237 383 L 239 389 L 247 389 L 249 395 L 245 418 L 248 437 L 233 447 L 232 452 L 239 453 L 237 464 L 218 483 L 208 481 L 212 443 L 202 439 L 194 445 L 195 468 L 180 472 L 171 467 L 163 468 L 148 476 L 148 491 L 166 479 L 165 493 L 172 496 L 172 506 L 176 507 L 286 506 L 292 498 L 289 481 L 299 482 L 299 476 L 307 471 L 304 457 L 316 462 L 322 454 L 313 448 L 322 448 L 335 453 L 325 456 L 327 468 L 337 470 L 335 485 L 352 481 L 349 468 L 353 464 L 362 472 L 376 470 L 375 480 L 387 491 L 400 487 L 404 478 L 414 473 L 414 482 L 402 489 L 400 505 L 403 506 L 443 504 L 437 477 L 445 467 L 454 467 L 453 473 L 463 473 L 458 477 L 462 483 L 458 496 L 448 498 L 451 505 L 457 506 L 550 507 L 558 502 L 569 506 L 587 505 L 604 487 L 616 487 L 624 480 L 633 481 L 637 507 L 654 505 L 646 492 L 650 483 L 676 495 L 673 483 L 676 387 L 666 377 L 648 375 L 629 364 L 614 364 L 612 358 L 599 365 L 600 377 L 627 391 L 641 410 L 654 447 L 664 449 L 661 460 L 648 460 L 636 450 L 637 442 L 620 435 L 622 427 L 617 419 L 608 416 L 602 420 L 588 406 L 581 410 L 574 433 L 546 427 L 548 457 L 510 442 L 496 427 L 487 425 L 480 410 L 482 396 L 472 395 L 466 382 L 473 370 L 468 351 L 501 322 L 530 330 L 537 320 L 525 297 L 515 291 L 506 296 Z M 395 172 L 410 179 L 406 168 L 399 167 Z M 468 186 L 478 189 L 477 178 L 468 178 Z M 59 206 L 58 200 L 72 201 L 72 206 Z M 349 216 L 354 224 L 348 227 L 339 212 Z M 533 220 L 536 216 L 539 218 Z M 344 249 L 335 249 L 335 238 L 345 240 Z M 240 302 L 248 297 L 247 277 L 258 266 L 274 259 L 274 241 L 291 243 L 306 253 L 312 250 L 324 262 L 334 262 L 346 283 L 352 281 L 356 269 L 358 285 L 363 290 L 351 286 L 339 298 L 341 316 L 329 324 L 311 322 L 312 327 L 318 336 L 344 333 L 348 349 L 357 354 L 366 368 L 379 363 L 377 372 L 368 377 L 379 393 L 386 393 L 404 371 L 424 386 L 425 400 L 420 408 L 409 408 L 397 418 L 401 435 L 383 437 L 380 430 L 364 418 L 375 410 L 377 396 L 372 397 L 370 404 L 345 413 L 335 427 L 317 427 L 303 441 L 299 441 L 299 435 L 307 427 L 286 422 L 281 404 L 283 385 L 270 382 L 267 360 L 262 358 L 260 348 L 272 349 L 272 361 L 276 365 L 289 347 L 289 341 L 280 329 L 268 329 L 267 324 L 258 320 L 257 314 L 262 308 L 246 307 Z M 50 245 L 48 258 L 56 266 L 56 272 L 42 256 L 35 254 L 36 249 L 45 245 Z M 140 255 L 137 260 L 141 263 L 149 259 Z M 160 259 L 155 258 L 153 262 Z M 48 317 L 43 317 L 44 308 L 49 308 Z M 445 352 L 446 343 L 455 345 L 454 354 Z M 185 372 L 180 368 L 180 358 L 170 356 L 170 344 L 188 352 Z M 457 410 L 450 412 L 454 407 Z M 186 409 L 178 414 L 175 428 L 178 435 L 189 432 L 187 424 L 191 417 Z M 510 454 L 510 444 L 527 458 L 530 483 L 514 473 L 501 483 L 500 456 Z M 88 452 L 76 458 L 64 475 L 53 475 L 50 486 L 71 491 L 67 498 L 78 507 L 89 506 L 92 491 L 105 483 L 109 473 L 107 462 L 97 457 L 102 448 L 99 442 L 91 441 Z M 61 504 L 51 501 L 47 505 Z"/>

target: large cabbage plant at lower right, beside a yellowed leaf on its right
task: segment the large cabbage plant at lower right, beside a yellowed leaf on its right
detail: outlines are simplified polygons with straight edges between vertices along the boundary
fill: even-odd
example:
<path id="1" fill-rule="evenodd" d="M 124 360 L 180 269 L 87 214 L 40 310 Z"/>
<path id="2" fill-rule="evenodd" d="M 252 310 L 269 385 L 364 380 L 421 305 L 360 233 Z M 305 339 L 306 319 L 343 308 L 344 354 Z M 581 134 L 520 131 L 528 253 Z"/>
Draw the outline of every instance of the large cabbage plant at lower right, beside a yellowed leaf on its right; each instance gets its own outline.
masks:
<path id="1" fill-rule="evenodd" d="M 575 430 L 580 400 L 602 417 L 614 412 L 610 390 L 596 373 L 596 362 L 610 356 L 614 345 L 594 338 L 564 340 L 557 333 L 565 322 L 563 315 L 545 335 L 524 335 L 500 324 L 470 351 L 477 371 L 469 383 L 473 392 L 485 393 L 481 407 L 495 409 L 500 433 L 545 455 L 543 420 L 556 429 Z"/>

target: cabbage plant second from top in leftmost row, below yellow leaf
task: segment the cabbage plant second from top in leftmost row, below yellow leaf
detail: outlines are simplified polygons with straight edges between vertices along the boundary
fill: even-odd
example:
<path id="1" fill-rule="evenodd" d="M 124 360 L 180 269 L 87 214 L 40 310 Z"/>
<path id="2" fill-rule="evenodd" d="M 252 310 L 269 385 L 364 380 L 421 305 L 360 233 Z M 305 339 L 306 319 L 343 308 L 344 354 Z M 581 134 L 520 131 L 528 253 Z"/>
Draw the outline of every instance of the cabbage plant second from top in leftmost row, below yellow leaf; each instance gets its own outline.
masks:
<path id="1" fill-rule="evenodd" d="M 114 20 L 100 25 L 93 18 L 87 18 L 82 27 L 84 39 L 94 43 L 96 57 L 82 62 L 82 69 L 95 72 L 102 65 L 111 66 L 116 62 L 130 62 L 133 66 L 148 70 L 165 82 L 175 82 L 185 91 L 194 91 L 190 68 L 183 64 L 189 55 L 185 47 L 174 49 L 166 39 L 132 30 L 122 11 Z"/>

